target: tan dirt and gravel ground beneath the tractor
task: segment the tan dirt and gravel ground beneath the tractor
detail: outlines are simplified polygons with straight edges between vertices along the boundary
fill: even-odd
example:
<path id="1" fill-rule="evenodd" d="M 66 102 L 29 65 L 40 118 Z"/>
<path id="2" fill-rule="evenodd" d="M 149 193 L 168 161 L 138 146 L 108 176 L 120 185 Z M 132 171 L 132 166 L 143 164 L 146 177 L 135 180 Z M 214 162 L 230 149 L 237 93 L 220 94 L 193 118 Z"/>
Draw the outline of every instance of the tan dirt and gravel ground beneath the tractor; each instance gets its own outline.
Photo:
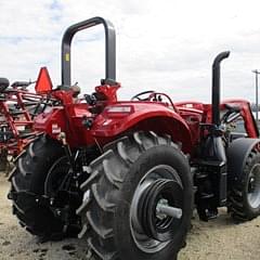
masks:
<path id="1" fill-rule="evenodd" d="M 83 239 L 38 244 L 22 229 L 6 199 L 8 181 L 0 173 L 0 260 L 88 260 Z M 187 245 L 178 260 L 259 260 L 260 218 L 234 224 L 224 209 L 210 222 L 193 220 Z M 135 259 L 133 259 L 135 260 Z M 138 259 L 136 259 L 138 260 Z"/>

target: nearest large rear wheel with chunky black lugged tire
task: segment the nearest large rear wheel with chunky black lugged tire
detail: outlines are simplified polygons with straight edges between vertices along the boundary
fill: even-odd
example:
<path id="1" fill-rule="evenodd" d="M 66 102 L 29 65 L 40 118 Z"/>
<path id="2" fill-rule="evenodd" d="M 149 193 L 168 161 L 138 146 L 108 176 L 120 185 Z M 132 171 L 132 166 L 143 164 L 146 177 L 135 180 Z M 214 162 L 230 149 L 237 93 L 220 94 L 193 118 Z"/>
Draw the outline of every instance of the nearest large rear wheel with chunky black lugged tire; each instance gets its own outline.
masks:
<path id="1" fill-rule="evenodd" d="M 191 225 L 193 184 L 187 159 L 170 138 L 135 132 L 104 147 L 81 185 L 78 213 L 96 259 L 174 259 Z M 162 202 L 164 200 L 164 202 Z M 180 218 L 158 213 L 159 204 Z"/>

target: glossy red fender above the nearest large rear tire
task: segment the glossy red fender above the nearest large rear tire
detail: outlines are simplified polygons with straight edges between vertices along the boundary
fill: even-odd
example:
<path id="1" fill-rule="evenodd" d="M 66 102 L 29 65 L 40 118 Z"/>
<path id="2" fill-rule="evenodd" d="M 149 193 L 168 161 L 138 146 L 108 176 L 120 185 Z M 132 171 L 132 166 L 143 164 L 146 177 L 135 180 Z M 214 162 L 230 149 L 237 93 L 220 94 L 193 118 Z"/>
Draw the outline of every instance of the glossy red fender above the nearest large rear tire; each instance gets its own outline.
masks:
<path id="1" fill-rule="evenodd" d="M 104 139 L 113 140 L 126 132 L 138 130 L 154 131 L 158 134 L 167 133 L 174 142 L 182 143 L 182 150 L 185 153 L 191 153 L 192 134 L 183 118 L 174 110 L 161 105 L 155 104 L 150 107 L 147 107 L 148 104 L 146 107 L 143 105 L 139 104 L 140 107 L 132 107 L 132 110 L 125 114 L 107 113 L 106 109 L 96 118 L 91 129 L 92 134 L 102 142 Z"/>

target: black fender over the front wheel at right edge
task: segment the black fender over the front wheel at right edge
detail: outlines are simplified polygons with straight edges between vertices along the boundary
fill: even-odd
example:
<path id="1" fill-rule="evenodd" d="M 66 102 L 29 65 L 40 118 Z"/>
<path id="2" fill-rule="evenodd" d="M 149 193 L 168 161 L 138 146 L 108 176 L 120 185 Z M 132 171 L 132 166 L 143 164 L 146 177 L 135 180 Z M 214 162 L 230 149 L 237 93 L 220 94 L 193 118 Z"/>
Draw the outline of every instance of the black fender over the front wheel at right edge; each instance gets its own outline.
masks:
<path id="1" fill-rule="evenodd" d="M 233 181 L 239 180 L 246 165 L 247 157 L 253 148 L 259 150 L 260 139 L 236 139 L 227 148 L 227 180 L 232 185 Z"/>

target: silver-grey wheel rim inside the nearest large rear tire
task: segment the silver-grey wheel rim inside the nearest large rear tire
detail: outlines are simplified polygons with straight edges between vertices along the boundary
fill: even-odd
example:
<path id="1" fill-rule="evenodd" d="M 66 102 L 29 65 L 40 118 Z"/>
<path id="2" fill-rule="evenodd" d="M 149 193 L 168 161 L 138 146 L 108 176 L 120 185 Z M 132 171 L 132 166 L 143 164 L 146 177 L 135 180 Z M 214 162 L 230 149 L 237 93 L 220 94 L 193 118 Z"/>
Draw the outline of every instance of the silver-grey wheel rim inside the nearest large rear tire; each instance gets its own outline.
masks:
<path id="1" fill-rule="evenodd" d="M 152 186 L 154 186 L 154 190 Z M 164 193 L 156 194 L 156 188 Z M 152 168 L 139 182 L 130 207 L 130 227 L 133 240 L 142 251 L 155 253 L 162 250 L 171 242 L 180 226 L 182 217 L 178 220 L 167 216 L 159 218 L 156 207 L 158 203 L 165 199 L 169 203 L 169 206 L 182 209 L 182 190 L 183 184 L 180 176 L 168 165 Z M 170 191 L 173 191 L 173 194 Z M 150 196 L 153 203 L 143 202 L 146 195 Z M 176 199 L 177 196 L 179 199 Z M 146 214 L 145 221 L 140 218 L 140 208 Z M 147 223 L 146 226 L 145 223 Z"/>

